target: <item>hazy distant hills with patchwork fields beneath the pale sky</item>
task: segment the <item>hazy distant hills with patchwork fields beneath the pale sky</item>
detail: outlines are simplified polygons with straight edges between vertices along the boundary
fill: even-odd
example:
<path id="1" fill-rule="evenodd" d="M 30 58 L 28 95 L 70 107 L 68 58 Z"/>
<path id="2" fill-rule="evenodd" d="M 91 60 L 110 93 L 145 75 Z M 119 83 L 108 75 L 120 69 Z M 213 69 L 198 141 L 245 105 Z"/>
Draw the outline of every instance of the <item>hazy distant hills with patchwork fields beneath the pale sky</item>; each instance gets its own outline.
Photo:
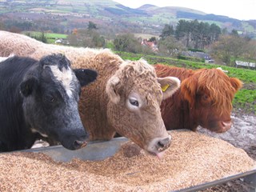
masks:
<path id="1" fill-rule="evenodd" d="M 72 30 L 86 27 L 88 21 L 99 29 L 115 33 L 133 32 L 159 35 L 165 24 L 176 25 L 180 19 L 198 19 L 216 23 L 227 30 L 238 30 L 256 38 L 256 20 L 240 21 L 227 16 L 206 14 L 185 7 L 158 7 L 150 4 L 132 9 L 112 0 L 1 0 L 0 23 L 14 21 L 32 22 L 33 26 L 42 22 L 45 28 Z M 48 22 L 51 22 L 49 24 Z M 0 25 L 1 27 L 1 25 Z M 55 29 L 57 30 L 57 29 Z"/>

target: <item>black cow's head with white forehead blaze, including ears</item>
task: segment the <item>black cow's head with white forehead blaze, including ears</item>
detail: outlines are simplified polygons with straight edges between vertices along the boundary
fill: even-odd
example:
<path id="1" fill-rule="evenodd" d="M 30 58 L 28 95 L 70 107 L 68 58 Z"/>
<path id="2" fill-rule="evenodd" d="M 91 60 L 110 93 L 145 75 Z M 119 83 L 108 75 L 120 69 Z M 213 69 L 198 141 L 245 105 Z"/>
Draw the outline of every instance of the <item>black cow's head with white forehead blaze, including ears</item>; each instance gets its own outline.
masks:
<path id="1" fill-rule="evenodd" d="M 23 110 L 31 130 L 62 143 L 69 150 L 89 138 L 78 113 L 81 86 L 97 77 L 94 70 L 71 70 L 62 54 L 52 54 L 34 65 L 21 82 Z"/>

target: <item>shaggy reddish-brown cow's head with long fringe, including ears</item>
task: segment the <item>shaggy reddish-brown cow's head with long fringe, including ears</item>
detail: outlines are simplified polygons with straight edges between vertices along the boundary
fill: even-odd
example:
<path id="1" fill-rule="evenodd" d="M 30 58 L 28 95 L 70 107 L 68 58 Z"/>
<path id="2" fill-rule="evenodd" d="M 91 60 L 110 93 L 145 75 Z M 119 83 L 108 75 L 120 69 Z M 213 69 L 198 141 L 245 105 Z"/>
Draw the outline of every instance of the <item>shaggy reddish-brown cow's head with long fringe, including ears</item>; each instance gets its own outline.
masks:
<path id="1" fill-rule="evenodd" d="M 182 81 L 183 97 L 190 103 L 190 118 L 198 125 L 218 133 L 230 129 L 232 100 L 242 87 L 238 78 L 229 78 L 222 70 L 196 70 Z"/>

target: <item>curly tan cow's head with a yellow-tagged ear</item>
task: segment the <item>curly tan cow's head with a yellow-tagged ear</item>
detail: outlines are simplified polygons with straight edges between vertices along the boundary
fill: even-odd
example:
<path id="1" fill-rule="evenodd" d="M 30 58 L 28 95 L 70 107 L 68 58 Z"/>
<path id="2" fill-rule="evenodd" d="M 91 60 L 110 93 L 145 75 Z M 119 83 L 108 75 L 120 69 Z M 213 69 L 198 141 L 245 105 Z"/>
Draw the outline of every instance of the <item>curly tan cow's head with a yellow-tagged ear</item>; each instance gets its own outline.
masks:
<path id="1" fill-rule="evenodd" d="M 160 104 L 178 90 L 178 78 L 157 78 L 154 67 L 143 60 L 124 62 L 106 85 L 107 115 L 114 128 L 150 154 L 170 146 Z M 168 85 L 162 91 L 161 86 Z"/>

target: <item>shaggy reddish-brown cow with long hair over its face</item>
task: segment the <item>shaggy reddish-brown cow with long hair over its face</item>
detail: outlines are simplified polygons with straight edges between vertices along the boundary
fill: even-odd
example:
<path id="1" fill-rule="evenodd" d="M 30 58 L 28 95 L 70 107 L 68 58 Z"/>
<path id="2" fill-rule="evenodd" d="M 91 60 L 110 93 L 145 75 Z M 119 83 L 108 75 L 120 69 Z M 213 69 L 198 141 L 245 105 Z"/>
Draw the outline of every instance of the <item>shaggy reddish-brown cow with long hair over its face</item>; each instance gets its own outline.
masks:
<path id="1" fill-rule="evenodd" d="M 222 70 L 155 65 L 158 77 L 178 77 L 180 89 L 162 102 L 162 118 L 167 130 L 196 130 L 202 126 L 214 132 L 230 129 L 232 100 L 242 87 L 238 78 L 229 78 Z"/>

